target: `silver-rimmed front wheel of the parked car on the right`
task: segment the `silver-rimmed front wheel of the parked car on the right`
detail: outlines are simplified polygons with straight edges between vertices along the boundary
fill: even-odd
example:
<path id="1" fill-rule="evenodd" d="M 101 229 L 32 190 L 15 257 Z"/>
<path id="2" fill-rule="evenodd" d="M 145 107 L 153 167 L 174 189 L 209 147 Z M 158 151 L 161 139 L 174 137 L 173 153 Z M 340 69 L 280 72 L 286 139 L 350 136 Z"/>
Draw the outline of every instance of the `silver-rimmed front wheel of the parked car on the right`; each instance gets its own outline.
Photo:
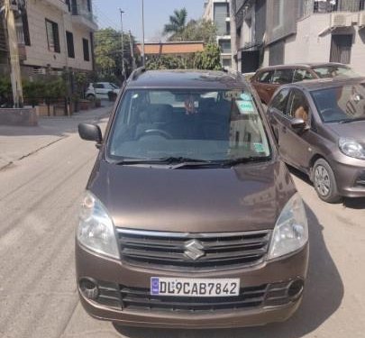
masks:
<path id="1" fill-rule="evenodd" d="M 315 161 L 313 167 L 313 184 L 317 195 L 324 202 L 338 203 L 341 201 L 342 196 L 338 192 L 333 169 L 324 159 Z"/>

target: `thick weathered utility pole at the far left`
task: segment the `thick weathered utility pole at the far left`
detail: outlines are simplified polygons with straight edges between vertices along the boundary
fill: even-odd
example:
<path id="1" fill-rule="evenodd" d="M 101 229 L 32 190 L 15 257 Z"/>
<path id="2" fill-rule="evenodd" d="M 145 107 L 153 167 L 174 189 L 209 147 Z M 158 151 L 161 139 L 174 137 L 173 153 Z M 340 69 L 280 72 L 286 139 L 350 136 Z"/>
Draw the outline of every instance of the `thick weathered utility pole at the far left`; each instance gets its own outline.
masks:
<path id="1" fill-rule="evenodd" d="M 16 35 L 14 5 L 10 4 L 10 0 L 5 0 L 5 20 L 7 26 L 7 40 L 9 43 L 11 80 L 13 88 L 14 106 L 15 108 L 23 107 L 23 86 L 19 61 L 18 38 Z"/>

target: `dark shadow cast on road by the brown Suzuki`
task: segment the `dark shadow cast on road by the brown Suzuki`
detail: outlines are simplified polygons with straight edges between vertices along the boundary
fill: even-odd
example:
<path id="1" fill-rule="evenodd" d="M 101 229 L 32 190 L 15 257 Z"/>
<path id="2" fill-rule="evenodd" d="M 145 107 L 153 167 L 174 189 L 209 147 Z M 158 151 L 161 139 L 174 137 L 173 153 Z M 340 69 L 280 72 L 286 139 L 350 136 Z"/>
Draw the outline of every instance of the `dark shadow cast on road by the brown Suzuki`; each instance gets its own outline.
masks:
<path id="1" fill-rule="evenodd" d="M 297 313 L 286 323 L 256 328 L 222 330 L 163 330 L 123 327 L 129 338 L 300 338 L 312 333 L 339 308 L 342 279 L 324 243 L 323 226 L 306 206 L 309 221 L 310 260 L 306 291 Z"/>

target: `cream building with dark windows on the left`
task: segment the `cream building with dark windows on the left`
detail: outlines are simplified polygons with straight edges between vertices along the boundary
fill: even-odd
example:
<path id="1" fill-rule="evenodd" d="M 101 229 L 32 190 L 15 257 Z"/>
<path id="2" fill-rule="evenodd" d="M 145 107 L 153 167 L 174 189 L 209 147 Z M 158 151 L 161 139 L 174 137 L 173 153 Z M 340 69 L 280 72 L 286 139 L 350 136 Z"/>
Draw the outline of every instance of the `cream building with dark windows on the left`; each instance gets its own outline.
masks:
<path id="1" fill-rule="evenodd" d="M 64 68 L 94 69 L 92 0 L 16 0 L 23 77 Z"/>

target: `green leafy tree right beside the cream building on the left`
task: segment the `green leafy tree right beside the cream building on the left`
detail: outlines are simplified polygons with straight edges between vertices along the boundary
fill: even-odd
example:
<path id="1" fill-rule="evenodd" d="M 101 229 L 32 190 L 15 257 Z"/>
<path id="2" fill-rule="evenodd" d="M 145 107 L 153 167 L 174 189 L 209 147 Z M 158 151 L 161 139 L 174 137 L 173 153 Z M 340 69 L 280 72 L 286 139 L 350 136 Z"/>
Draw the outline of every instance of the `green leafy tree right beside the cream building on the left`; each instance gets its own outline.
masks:
<path id="1" fill-rule="evenodd" d="M 132 37 L 132 44 L 134 45 Z M 124 65 L 126 75 L 132 72 L 132 52 L 129 34 L 123 33 Z M 121 32 L 105 28 L 95 33 L 96 69 L 100 78 L 115 81 L 122 78 Z"/>

